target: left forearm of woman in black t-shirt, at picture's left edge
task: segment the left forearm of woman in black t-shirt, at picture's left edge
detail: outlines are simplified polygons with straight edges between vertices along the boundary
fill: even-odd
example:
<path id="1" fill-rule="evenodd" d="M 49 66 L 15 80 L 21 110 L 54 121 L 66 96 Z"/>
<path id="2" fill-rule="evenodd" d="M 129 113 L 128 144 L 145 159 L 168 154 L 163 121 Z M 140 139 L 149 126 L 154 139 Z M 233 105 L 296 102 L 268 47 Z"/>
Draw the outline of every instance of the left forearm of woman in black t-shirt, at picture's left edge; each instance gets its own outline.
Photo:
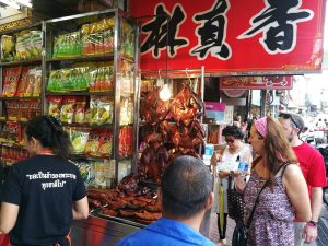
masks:
<path id="1" fill-rule="evenodd" d="M 2 202 L 0 212 L 0 234 L 8 234 L 15 225 L 20 207 Z"/>

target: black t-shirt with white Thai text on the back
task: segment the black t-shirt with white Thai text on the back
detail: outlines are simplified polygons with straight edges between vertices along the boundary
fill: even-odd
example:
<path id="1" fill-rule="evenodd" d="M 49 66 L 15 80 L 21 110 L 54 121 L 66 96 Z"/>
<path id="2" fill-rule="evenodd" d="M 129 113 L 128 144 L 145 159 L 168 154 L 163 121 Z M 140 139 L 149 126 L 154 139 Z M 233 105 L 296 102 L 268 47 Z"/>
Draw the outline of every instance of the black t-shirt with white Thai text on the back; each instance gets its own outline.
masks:
<path id="1" fill-rule="evenodd" d="M 20 206 L 13 246 L 51 245 L 72 223 L 72 203 L 86 196 L 77 166 L 55 155 L 36 155 L 14 164 L 5 179 L 2 201 Z"/>

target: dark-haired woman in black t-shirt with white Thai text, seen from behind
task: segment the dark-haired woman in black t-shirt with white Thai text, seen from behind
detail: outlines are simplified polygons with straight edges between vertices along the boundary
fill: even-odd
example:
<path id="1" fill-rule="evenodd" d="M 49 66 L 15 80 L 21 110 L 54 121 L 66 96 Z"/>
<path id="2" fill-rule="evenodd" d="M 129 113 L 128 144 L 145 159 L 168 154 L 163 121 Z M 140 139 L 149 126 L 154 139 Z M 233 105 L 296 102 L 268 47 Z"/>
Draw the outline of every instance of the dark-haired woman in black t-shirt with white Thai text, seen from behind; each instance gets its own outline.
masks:
<path id="1" fill-rule="evenodd" d="M 86 219 L 86 190 L 67 161 L 71 143 L 60 121 L 38 116 L 24 132 L 31 157 L 14 164 L 4 183 L 0 234 L 12 246 L 69 246 L 72 220 Z"/>

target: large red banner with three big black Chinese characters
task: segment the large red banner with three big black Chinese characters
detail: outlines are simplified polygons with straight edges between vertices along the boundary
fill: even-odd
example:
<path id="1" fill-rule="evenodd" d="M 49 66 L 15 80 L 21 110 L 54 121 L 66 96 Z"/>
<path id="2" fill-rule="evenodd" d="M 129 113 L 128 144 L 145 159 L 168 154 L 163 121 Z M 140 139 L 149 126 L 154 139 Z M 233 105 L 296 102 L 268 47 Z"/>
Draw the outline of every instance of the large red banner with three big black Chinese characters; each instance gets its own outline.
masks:
<path id="1" fill-rule="evenodd" d="M 131 15 L 141 23 L 142 70 L 166 69 L 166 47 L 168 69 L 321 69 L 324 0 L 131 0 Z"/>

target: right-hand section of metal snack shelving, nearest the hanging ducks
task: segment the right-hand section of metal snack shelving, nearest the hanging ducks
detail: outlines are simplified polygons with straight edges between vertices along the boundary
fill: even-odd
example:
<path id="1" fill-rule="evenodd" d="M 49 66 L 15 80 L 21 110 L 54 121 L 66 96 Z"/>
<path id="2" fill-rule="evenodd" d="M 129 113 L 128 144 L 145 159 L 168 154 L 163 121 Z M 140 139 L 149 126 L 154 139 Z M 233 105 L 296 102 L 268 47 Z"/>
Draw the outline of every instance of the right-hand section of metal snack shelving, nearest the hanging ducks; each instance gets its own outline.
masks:
<path id="1" fill-rule="evenodd" d="M 44 110 L 63 122 L 77 156 L 92 162 L 90 173 L 98 177 L 91 177 L 91 187 L 112 188 L 132 168 L 139 66 L 134 23 L 108 10 L 44 25 Z M 129 166 L 120 169 L 126 156 Z M 102 167 L 107 162 L 115 163 L 112 173 Z"/>

